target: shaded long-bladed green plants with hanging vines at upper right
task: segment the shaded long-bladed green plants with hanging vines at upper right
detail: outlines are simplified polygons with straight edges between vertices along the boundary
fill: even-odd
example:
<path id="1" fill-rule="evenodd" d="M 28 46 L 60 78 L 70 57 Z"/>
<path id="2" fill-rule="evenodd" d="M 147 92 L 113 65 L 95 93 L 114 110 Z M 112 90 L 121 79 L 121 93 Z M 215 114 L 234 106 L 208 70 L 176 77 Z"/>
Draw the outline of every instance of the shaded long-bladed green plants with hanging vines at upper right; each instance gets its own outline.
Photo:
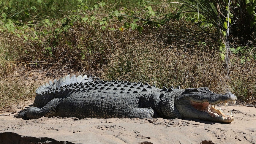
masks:
<path id="1" fill-rule="evenodd" d="M 170 2 L 170 4 L 177 3 Z M 229 51 L 225 50 L 227 45 L 230 45 L 230 51 L 240 55 L 241 58 L 242 56 L 249 56 L 256 59 L 255 1 L 180 0 L 178 5 L 181 5 L 181 7 L 173 18 L 185 17 L 188 21 L 194 23 L 193 26 L 198 26 L 200 32 L 209 33 L 215 30 L 215 33 L 219 36 L 216 39 L 219 39 L 223 60 L 225 58 L 224 53 Z M 227 44 L 225 37 L 228 36 L 230 43 Z"/>

